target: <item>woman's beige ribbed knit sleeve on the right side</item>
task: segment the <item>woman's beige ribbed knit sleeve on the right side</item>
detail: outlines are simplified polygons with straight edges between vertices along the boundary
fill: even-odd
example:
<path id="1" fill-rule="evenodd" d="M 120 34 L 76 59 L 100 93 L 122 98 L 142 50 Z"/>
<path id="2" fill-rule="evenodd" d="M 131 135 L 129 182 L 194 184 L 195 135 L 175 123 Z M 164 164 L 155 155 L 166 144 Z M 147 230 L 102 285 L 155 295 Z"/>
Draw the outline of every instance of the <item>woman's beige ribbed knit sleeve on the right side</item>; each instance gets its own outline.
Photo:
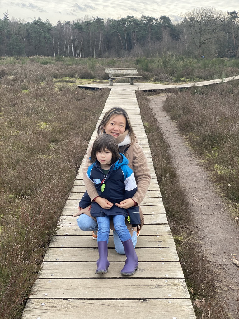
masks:
<path id="1" fill-rule="evenodd" d="M 140 205 L 148 190 L 151 175 L 148 167 L 148 161 L 142 147 L 138 143 L 134 143 L 133 147 L 134 176 L 138 189 L 132 199 Z"/>

